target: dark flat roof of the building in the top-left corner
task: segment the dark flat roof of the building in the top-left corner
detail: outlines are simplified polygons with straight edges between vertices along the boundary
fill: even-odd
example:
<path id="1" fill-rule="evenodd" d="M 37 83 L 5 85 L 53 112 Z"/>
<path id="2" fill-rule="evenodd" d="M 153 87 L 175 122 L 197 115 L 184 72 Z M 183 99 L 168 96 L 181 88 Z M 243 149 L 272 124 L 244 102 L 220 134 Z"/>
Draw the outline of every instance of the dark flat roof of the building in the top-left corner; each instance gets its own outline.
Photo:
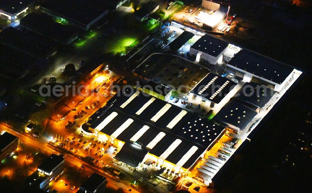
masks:
<path id="1" fill-rule="evenodd" d="M 34 2 L 34 0 L 1 0 L 0 9 L 7 13 L 14 14 L 26 8 L 28 4 L 32 2 Z"/>

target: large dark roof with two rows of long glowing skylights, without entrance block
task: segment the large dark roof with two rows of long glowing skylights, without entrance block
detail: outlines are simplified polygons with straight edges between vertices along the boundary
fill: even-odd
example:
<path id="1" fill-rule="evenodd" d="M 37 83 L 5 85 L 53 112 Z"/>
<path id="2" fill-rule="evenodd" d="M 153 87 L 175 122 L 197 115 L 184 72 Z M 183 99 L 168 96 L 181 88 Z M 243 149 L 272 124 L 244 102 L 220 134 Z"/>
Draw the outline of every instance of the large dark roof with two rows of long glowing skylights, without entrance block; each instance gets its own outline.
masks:
<path id="1" fill-rule="evenodd" d="M 224 129 L 207 118 L 130 90 L 125 90 L 127 96 L 115 95 L 108 103 L 112 104 L 109 110 L 90 127 L 100 126 L 101 132 L 126 143 L 140 142 L 149 153 L 184 168 L 190 167 Z"/>

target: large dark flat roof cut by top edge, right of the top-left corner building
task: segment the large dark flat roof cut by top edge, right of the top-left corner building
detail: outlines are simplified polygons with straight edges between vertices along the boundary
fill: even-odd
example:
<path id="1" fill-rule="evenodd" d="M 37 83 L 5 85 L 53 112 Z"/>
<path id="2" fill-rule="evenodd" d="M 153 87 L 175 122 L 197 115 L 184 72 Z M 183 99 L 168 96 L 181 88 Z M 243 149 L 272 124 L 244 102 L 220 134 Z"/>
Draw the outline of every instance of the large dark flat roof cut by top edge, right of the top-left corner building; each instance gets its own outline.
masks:
<path id="1" fill-rule="evenodd" d="M 44 2 L 42 7 L 84 25 L 108 10 L 106 3 L 98 0 L 53 0 Z"/>

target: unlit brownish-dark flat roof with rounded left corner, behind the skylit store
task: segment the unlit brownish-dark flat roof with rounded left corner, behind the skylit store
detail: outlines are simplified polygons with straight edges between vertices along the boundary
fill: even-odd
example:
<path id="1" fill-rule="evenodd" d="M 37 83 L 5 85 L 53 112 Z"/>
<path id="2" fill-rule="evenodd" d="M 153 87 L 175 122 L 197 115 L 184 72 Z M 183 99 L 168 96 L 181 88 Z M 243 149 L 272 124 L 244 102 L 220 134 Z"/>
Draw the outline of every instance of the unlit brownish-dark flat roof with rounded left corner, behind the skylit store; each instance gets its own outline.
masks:
<path id="1" fill-rule="evenodd" d="M 150 55 L 133 71 L 134 74 L 153 80 L 160 85 L 168 85 L 184 94 L 188 93 L 209 72 L 209 69 L 182 57 L 161 53 Z"/>

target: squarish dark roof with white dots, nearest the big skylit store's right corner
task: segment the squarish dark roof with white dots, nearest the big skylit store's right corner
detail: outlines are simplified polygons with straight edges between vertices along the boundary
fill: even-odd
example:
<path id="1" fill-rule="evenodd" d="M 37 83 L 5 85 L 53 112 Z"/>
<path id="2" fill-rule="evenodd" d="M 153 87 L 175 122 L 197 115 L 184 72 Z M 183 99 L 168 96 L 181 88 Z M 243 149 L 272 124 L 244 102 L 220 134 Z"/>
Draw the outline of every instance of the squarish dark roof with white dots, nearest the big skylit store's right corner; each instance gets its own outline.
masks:
<path id="1" fill-rule="evenodd" d="M 243 130 L 256 114 L 256 111 L 245 105 L 229 101 L 213 117 L 213 120 L 218 120 L 230 127 Z"/>

